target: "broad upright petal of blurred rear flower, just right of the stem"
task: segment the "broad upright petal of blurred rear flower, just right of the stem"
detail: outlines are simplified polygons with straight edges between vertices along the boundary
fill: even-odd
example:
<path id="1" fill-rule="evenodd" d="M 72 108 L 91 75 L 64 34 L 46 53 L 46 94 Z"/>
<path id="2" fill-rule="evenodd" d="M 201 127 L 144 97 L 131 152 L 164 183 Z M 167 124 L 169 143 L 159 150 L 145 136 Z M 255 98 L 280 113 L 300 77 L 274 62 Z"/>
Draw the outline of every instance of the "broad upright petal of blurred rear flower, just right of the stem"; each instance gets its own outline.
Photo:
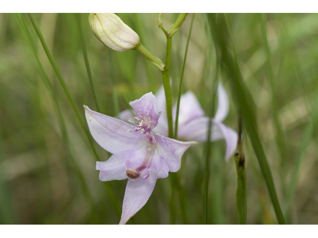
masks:
<path id="1" fill-rule="evenodd" d="M 175 119 L 176 105 L 173 107 L 173 119 Z M 199 101 L 191 91 L 186 92 L 180 97 L 180 108 L 178 117 L 178 127 L 182 127 L 187 122 L 204 116 L 204 111 Z"/>

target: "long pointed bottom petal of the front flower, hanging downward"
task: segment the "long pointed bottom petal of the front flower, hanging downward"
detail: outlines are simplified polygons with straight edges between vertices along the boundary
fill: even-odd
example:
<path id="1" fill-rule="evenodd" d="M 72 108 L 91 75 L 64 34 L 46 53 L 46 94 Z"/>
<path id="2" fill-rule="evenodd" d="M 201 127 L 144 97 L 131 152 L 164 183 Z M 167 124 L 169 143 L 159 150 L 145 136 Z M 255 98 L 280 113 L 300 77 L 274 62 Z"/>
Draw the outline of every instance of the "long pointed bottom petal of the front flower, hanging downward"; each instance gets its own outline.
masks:
<path id="1" fill-rule="evenodd" d="M 128 179 L 120 225 L 126 224 L 148 201 L 157 179 Z"/>

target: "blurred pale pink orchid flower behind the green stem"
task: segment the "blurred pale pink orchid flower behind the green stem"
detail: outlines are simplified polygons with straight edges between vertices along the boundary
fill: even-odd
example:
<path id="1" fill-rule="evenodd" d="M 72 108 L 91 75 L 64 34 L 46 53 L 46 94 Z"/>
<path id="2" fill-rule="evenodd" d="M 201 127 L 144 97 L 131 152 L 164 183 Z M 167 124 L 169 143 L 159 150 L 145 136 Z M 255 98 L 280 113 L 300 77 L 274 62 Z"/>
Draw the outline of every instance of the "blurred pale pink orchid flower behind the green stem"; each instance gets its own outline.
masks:
<path id="1" fill-rule="evenodd" d="M 158 124 L 154 129 L 155 133 L 167 136 L 168 121 L 165 109 L 164 89 L 161 87 L 156 94 L 156 108 L 162 112 Z M 225 139 L 226 153 L 225 160 L 229 160 L 236 150 L 238 134 L 232 128 L 226 126 L 222 121 L 229 113 L 229 98 L 221 83 L 218 86 L 218 110 L 213 119 L 211 130 L 211 141 Z M 176 114 L 176 105 L 172 110 L 173 125 Z M 125 110 L 119 114 L 119 118 L 128 121 L 133 117 L 131 110 Z M 193 92 L 188 91 L 181 95 L 178 119 L 178 140 L 204 142 L 207 140 L 209 118 L 204 116 L 204 111 L 200 106 Z"/>

